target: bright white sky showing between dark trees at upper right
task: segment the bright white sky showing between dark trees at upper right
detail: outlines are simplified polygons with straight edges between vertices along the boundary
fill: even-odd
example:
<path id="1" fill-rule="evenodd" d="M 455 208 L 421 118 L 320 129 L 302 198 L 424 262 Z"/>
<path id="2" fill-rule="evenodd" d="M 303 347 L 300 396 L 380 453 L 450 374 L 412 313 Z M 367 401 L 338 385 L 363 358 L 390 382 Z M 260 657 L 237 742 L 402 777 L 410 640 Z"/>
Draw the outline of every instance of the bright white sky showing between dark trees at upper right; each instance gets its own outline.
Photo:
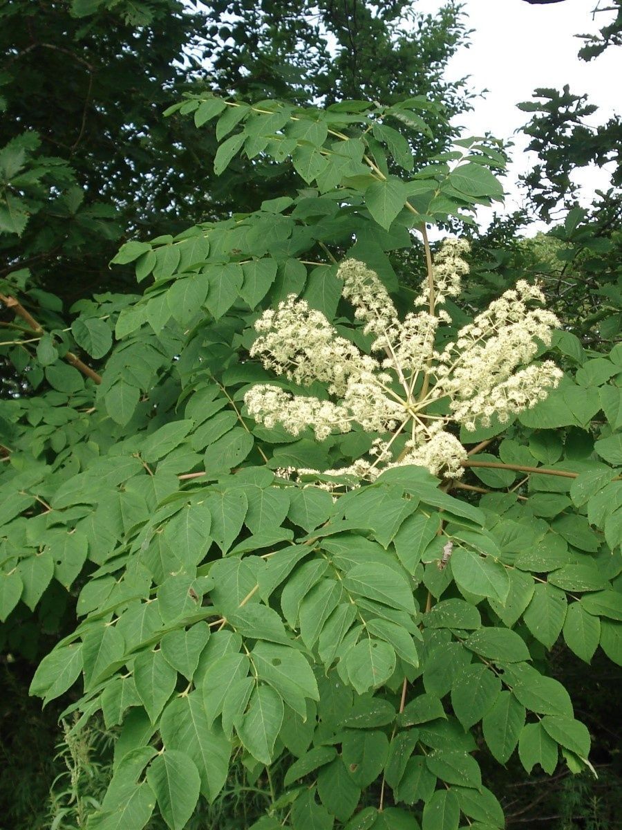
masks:
<path id="1" fill-rule="evenodd" d="M 421 12 L 438 12 L 441 0 L 418 0 Z M 489 131 L 502 139 L 513 139 L 513 164 L 504 180 L 508 212 L 522 205 L 522 194 L 513 183 L 518 174 L 532 167 L 534 154 L 527 154 L 527 140 L 514 131 L 524 125 L 528 113 L 518 110 L 519 101 L 532 99 L 536 87 L 561 90 L 570 85 L 571 92 L 587 93 L 590 103 L 599 107 L 591 123 L 605 121 L 616 110 L 622 111 L 622 61 L 620 51 L 611 47 L 592 61 L 580 61 L 576 53 L 582 42 L 577 34 L 597 32 L 613 17 L 612 12 L 593 14 L 599 0 L 565 0 L 549 5 L 531 5 L 524 0 L 463 0 L 468 17 L 469 48 L 461 48 L 447 67 L 448 78 L 470 76 L 473 90 L 488 89 L 483 98 L 472 103 L 474 110 L 459 115 L 456 124 L 464 134 Z M 600 7 L 610 6 L 600 0 Z M 586 168 L 575 174 L 581 184 L 581 202 L 589 204 L 598 188 L 606 188 L 606 169 Z M 487 223 L 492 211 L 482 210 L 479 221 Z M 538 224 L 531 233 L 544 230 Z"/>

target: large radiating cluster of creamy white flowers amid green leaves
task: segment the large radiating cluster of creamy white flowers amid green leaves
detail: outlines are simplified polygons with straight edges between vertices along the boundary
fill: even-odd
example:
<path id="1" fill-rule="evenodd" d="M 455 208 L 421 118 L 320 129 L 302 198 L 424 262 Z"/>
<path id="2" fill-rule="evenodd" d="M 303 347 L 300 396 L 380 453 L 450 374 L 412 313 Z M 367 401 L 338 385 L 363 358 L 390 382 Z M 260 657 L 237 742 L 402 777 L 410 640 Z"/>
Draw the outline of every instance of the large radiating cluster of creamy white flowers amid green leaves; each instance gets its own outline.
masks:
<path id="1" fill-rule="evenodd" d="M 532 307 L 544 298 L 525 281 L 494 300 L 442 349 L 435 348 L 439 327 L 450 322 L 442 308 L 445 298 L 459 295 L 461 277 L 469 270 L 466 251 L 463 240 L 443 243 L 415 310 L 404 320 L 374 271 L 353 259 L 342 262 L 343 296 L 357 320 L 364 321 L 365 334 L 374 337 L 373 356 L 340 337 L 320 311 L 295 295 L 265 311 L 255 323 L 259 336 L 250 354 L 299 385 L 320 381 L 329 397 L 292 394 L 265 383 L 245 395 L 250 415 L 265 427 L 280 424 L 292 435 L 312 427 L 318 440 L 348 432 L 355 423 L 380 434 L 370 460 L 324 471 L 328 475 L 373 480 L 389 466 L 415 464 L 436 476 L 460 476 L 466 451 L 450 431 L 452 422 L 471 431 L 488 426 L 493 416 L 507 422 L 546 398 L 561 378 L 551 361 L 531 363 L 537 340 L 550 344 L 559 322 L 551 312 Z M 396 454 L 394 443 L 401 435 L 406 445 Z"/>

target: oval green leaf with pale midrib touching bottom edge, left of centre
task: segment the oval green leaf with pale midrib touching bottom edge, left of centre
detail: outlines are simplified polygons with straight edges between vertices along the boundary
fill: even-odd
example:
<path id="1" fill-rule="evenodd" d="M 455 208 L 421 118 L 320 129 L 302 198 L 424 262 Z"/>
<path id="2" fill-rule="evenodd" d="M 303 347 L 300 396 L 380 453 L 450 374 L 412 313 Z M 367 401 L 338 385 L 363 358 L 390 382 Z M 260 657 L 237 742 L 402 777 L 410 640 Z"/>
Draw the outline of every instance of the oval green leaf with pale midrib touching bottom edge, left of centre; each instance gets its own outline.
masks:
<path id="1" fill-rule="evenodd" d="M 171 830 L 183 830 L 197 806 L 201 779 L 187 754 L 167 749 L 147 770 L 148 784 Z"/>

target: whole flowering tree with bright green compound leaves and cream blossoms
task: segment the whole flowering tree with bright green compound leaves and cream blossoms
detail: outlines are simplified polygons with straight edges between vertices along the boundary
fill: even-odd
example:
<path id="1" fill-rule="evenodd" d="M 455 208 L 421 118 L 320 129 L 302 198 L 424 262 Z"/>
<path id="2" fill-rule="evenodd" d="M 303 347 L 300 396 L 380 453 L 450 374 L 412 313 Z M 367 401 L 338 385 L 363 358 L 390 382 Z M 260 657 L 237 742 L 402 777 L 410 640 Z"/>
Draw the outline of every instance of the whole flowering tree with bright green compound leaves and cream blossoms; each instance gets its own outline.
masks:
<path id="1" fill-rule="evenodd" d="M 586 354 L 528 281 L 454 303 L 467 248 L 425 228 L 501 198 L 503 154 L 414 171 L 425 100 L 176 108 L 217 118 L 217 173 L 300 188 L 128 242 L 143 295 L 70 331 L 2 283 L 3 348 L 47 385 L 0 410 L 0 618 L 17 648 L 77 594 L 32 693 L 77 684 L 71 730 L 118 733 L 86 826 L 182 830 L 241 764 L 256 830 L 501 828 L 484 757 L 592 769 L 547 649 L 622 655 L 622 347 Z"/>

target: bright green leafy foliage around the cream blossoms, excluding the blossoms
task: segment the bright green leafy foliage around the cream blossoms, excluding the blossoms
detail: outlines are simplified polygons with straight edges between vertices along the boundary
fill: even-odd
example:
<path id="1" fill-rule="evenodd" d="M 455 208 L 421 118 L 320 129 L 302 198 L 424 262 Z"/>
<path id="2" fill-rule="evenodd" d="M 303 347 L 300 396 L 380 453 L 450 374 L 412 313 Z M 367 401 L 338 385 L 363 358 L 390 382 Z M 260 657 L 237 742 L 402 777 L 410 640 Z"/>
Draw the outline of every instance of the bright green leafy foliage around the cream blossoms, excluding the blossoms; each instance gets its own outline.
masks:
<path id="1" fill-rule="evenodd" d="M 38 662 L 32 694 L 64 701 L 70 784 L 56 827 L 220 826 L 222 793 L 246 789 L 239 826 L 257 830 L 501 828 L 494 763 L 594 771 L 549 654 L 565 643 L 586 664 L 622 662 L 618 196 L 608 226 L 575 206 L 552 237 L 496 257 L 503 227 L 468 232 L 465 302 L 447 299 L 437 345 L 538 276 L 562 324 L 537 346 L 564 374 L 547 398 L 456 430 L 462 476 L 397 466 L 327 491 L 284 470 L 352 465 L 390 435 L 317 440 L 250 417 L 257 383 L 328 398 L 323 383 L 262 367 L 255 322 L 294 294 L 368 353 L 338 264 L 364 262 L 410 310 L 439 262 L 425 227 L 468 228 L 474 207 L 502 198 L 505 157 L 492 140 L 447 149 L 447 126 L 434 147 L 445 115 L 406 90 L 385 87 L 386 104 L 325 90 L 314 106 L 306 90 L 232 91 L 188 89 L 164 123 L 206 136 L 216 176 L 233 168 L 252 198 L 226 215 L 208 193 L 187 212 L 208 221 L 154 222 L 112 260 L 117 288 L 143 287 L 95 293 L 70 314 L 25 266 L 37 245 L 58 264 L 41 235 L 74 227 L 62 206 L 80 215 L 80 167 L 42 154 L 32 132 L 0 156 L 0 215 L 22 222 L 2 225 L 0 619 L 7 654 Z M 91 235 L 103 250 L 119 222 L 138 227 L 119 205 L 88 208 L 76 261 Z M 178 222 L 182 196 L 176 211 Z M 446 399 L 436 406 L 447 414 Z M 90 752 L 114 754 L 111 779 Z"/>

